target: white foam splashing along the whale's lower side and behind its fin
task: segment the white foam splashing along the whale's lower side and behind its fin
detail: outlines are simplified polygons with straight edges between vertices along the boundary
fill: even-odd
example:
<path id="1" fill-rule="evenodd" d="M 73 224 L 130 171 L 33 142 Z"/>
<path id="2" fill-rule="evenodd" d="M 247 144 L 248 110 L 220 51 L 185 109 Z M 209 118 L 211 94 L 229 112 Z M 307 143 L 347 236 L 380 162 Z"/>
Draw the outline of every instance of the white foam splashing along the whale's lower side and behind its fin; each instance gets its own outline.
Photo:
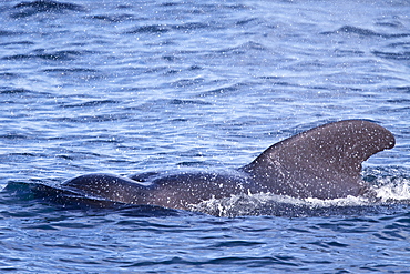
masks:
<path id="1" fill-rule="evenodd" d="M 211 199 L 199 204 L 192 205 L 193 211 L 204 212 L 218 216 L 240 215 L 309 215 L 312 211 L 341 211 L 351 206 L 372 206 L 390 203 L 410 202 L 410 181 L 404 177 L 383 177 L 373 186 L 377 199 L 366 196 L 347 196 L 332 200 L 295 199 L 275 195 L 271 193 L 240 194 L 226 199 Z M 335 210 L 336 209 L 336 210 Z"/>

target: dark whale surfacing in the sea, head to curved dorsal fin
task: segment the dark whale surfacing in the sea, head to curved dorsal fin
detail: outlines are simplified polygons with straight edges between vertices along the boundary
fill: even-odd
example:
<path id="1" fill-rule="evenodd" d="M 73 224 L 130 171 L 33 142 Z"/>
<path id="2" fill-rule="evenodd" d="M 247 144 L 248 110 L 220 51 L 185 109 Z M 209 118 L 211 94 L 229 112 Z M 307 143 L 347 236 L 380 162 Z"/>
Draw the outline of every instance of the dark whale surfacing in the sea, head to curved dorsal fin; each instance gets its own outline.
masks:
<path id="1" fill-rule="evenodd" d="M 61 187 L 101 201 L 189 210 L 211 199 L 273 193 L 321 200 L 370 192 L 361 180 L 361 163 L 394 146 L 385 128 L 362 120 L 325 124 L 265 150 L 252 163 L 229 172 L 194 172 L 161 176 L 143 173 L 123 177 L 88 174 Z"/>

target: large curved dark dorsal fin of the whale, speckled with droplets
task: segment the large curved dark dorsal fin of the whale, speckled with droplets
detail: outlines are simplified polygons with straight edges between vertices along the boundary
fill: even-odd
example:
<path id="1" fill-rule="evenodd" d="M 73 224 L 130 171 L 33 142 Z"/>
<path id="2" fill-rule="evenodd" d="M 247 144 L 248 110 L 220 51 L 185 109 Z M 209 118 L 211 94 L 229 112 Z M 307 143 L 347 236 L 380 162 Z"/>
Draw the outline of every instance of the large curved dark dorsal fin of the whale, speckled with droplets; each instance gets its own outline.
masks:
<path id="1" fill-rule="evenodd" d="M 276 143 L 243 168 L 276 194 L 335 199 L 363 191 L 361 163 L 394 136 L 363 120 L 325 124 Z"/>

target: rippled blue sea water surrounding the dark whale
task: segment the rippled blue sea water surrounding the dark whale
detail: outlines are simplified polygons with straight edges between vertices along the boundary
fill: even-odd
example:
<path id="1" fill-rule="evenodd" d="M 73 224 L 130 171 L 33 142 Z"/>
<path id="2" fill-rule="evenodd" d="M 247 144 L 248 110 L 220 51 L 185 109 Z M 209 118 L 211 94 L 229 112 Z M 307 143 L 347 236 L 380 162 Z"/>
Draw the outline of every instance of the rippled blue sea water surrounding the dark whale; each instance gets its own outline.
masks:
<path id="1" fill-rule="evenodd" d="M 1 1 L 0 110 L 1 271 L 410 272 L 408 1 Z M 342 119 L 396 135 L 363 166 L 381 203 L 99 210 L 29 189 L 237 168 Z"/>

